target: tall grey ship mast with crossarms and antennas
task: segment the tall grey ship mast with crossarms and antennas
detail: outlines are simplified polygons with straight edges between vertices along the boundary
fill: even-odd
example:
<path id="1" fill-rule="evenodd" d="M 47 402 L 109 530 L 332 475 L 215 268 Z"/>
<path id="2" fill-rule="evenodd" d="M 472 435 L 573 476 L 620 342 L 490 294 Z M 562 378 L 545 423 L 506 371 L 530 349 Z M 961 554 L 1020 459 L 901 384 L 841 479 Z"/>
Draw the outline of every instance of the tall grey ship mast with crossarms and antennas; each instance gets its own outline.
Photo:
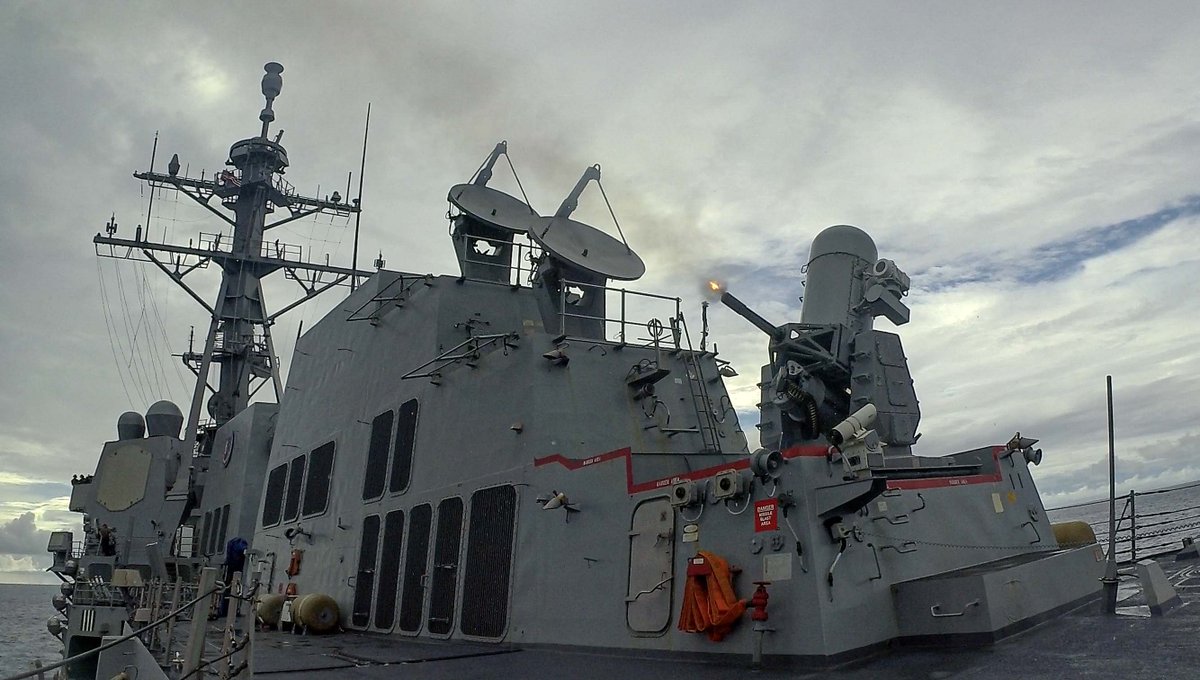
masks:
<path id="1" fill-rule="evenodd" d="M 275 120 L 271 107 L 283 89 L 283 66 L 272 61 L 264 68 L 263 96 L 266 97 L 266 106 L 258 116 L 262 131 L 257 137 L 234 143 L 226 162 L 227 169 L 209 179 L 203 174 L 200 179 L 188 177 L 179 174 L 179 156 L 175 155 L 167 174 L 156 173 L 152 167 L 149 171 L 133 174 L 150 185 L 151 192 L 157 188 L 175 189 L 204 206 L 233 228 L 232 240 L 223 240 L 221 234 L 202 234 L 199 247 L 191 242 L 187 246 L 150 242 L 146 240 L 149 223 L 146 230 L 138 229 L 134 239 L 119 239 L 115 236 L 115 221 L 109 222 L 106 235 L 97 234 L 92 240 L 101 257 L 154 263 L 209 313 L 204 351 L 197 354 L 188 348 L 182 355 L 184 362 L 197 375 L 185 435 L 187 450 L 193 451 L 206 392 L 211 392 L 206 408 L 214 428 L 250 405 L 251 397 L 266 383 L 272 384 L 276 401 L 281 397 L 277 355 L 271 339 L 271 326 L 280 315 L 335 285 L 356 283 L 358 277 L 370 276 L 370 272 L 328 261 L 304 261 L 299 248 L 268 239 L 266 233 L 281 224 L 317 213 L 348 217 L 359 213 L 361 206 L 359 199 L 343 201 L 337 192 L 324 199 L 300 195 L 283 179 L 288 167 L 287 151 L 280 144 L 283 131 L 278 131 L 275 139 L 268 137 Z M 233 212 L 233 217 L 212 205 L 214 197 L 221 207 Z M 276 209 L 286 209 L 286 216 L 268 223 L 268 217 Z M 210 263 L 221 267 L 221 287 L 212 303 L 185 281 L 188 273 Z M 281 270 L 300 284 L 304 294 L 275 313 L 268 313 L 262 281 Z M 218 374 L 216 387 L 209 381 L 214 363 Z M 186 475 L 186 467 L 184 470 L 181 475 Z M 186 485 L 182 488 L 186 489 Z M 178 481 L 175 489 L 180 489 Z"/>

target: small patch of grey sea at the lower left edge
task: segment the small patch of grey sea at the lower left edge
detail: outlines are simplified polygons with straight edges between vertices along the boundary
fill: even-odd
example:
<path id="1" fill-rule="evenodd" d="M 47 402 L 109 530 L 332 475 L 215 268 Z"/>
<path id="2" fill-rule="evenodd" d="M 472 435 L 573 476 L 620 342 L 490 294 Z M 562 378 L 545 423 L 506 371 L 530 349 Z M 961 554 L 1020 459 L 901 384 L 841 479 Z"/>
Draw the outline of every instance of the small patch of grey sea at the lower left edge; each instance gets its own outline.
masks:
<path id="1" fill-rule="evenodd" d="M 61 645 L 46 632 L 46 620 L 54 613 L 50 598 L 54 585 L 11 585 L 0 583 L 0 676 L 29 670 L 35 658 L 59 661 Z"/>

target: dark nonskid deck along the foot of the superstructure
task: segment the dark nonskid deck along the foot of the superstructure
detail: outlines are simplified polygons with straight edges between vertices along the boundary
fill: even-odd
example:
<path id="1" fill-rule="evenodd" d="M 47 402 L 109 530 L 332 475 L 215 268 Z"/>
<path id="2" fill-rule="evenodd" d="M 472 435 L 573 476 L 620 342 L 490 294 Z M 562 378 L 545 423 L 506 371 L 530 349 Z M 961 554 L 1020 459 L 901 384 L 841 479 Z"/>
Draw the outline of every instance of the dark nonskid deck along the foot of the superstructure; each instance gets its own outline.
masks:
<path id="1" fill-rule="evenodd" d="M 1200 562 L 1163 562 L 1183 601 L 1166 616 L 1141 615 L 1139 589 L 1122 588 L 1126 615 L 1100 613 L 1091 602 L 1042 626 L 983 648 L 898 649 L 835 669 L 773 667 L 754 678 L 924 679 L 1192 679 L 1200 652 Z M 1134 585 L 1136 582 L 1126 582 Z M 774 633 L 780 634 L 780 633 Z M 595 652 L 520 649 L 470 643 L 404 640 L 395 636 L 260 633 L 256 675 L 307 680 L 530 679 L 570 680 L 728 679 L 749 672 L 749 650 L 737 663 L 631 658 Z M 769 650 L 769 638 L 767 643 Z"/>

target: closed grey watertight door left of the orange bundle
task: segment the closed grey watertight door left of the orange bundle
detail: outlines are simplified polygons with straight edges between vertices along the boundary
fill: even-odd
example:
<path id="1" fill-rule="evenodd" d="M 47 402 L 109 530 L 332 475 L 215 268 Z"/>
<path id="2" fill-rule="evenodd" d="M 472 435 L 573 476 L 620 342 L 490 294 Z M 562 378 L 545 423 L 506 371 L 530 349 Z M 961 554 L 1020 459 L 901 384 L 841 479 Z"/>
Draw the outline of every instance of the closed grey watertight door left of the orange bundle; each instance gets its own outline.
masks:
<path id="1" fill-rule="evenodd" d="M 634 632 L 661 633 L 671 624 L 674 511 L 665 498 L 634 510 L 629 531 L 629 592 L 625 621 Z"/>

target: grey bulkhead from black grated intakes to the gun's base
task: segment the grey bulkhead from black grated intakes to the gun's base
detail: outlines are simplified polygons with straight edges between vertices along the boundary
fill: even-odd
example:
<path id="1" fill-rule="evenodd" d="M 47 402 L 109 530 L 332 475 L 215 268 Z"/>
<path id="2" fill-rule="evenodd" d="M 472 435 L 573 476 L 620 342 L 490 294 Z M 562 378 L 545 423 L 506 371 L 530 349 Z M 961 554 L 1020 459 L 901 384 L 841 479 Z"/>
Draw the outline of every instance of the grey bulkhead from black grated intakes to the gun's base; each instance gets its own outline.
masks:
<path id="1" fill-rule="evenodd" d="M 347 320 L 378 288 L 368 283 L 301 338 L 280 411 L 281 434 L 268 474 L 334 443 L 328 506 L 260 526 L 254 537 L 258 558 L 274 565 L 275 590 L 290 582 L 301 594 L 330 594 L 347 626 L 523 644 L 746 654 L 749 625 L 719 644 L 674 627 L 688 560 L 702 548 L 743 570 L 736 580 L 742 597 L 750 596 L 751 580 L 773 582 L 776 632 L 768 654 L 829 657 L 902 634 L 896 583 L 1056 547 L 1025 461 L 997 458 L 998 449 L 960 455 L 964 473 L 953 479 L 896 480 L 847 513 L 838 507 L 854 485 L 842 479 L 841 465 L 827 461 L 824 447 L 797 446 L 785 451 L 788 463 L 778 486 L 756 480 L 738 503 L 672 507 L 665 499 L 674 482 L 692 476 L 710 489 L 713 475 L 744 469 L 748 461 L 732 414 L 721 426 L 724 453 L 704 455 L 698 437 L 666 434 L 632 398 L 624 380 L 630 367 L 658 356 L 671 373 L 659 381 L 656 398 L 677 407 L 671 408 L 672 426 L 695 426 L 683 384 L 688 367 L 679 356 L 568 338 L 569 362 L 557 365 L 542 356 L 556 347 L 554 335 L 544 330 L 529 289 L 448 276 L 416 283 L 402 306 L 385 306 L 374 323 Z M 470 332 L 509 331 L 516 337 L 481 349 L 469 362 L 448 363 L 433 378 L 404 379 Z M 716 375 L 712 357 L 701 365 Z M 708 386 L 719 402 L 724 385 L 713 380 Z M 364 501 L 372 422 L 410 399 L 419 404 L 410 479 L 403 492 L 383 491 Z M 953 459 L 901 458 L 912 467 Z M 392 464 L 377 473 L 390 474 Z M 472 494 L 503 485 L 514 485 L 516 497 L 515 547 L 502 553 L 511 560 L 505 572 L 510 594 L 502 603 L 502 627 L 473 636 L 461 627 L 474 606 L 462 597 L 470 579 L 464 576 L 467 535 L 476 522 Z M 541 500 L 559 492 L 577 511 L 542 510 Z M 286 495 L 268 492 L 259 518 L 272 503 L 287 505 Z M 461 499 L 461 514 L 443 516 L 439 504 L 451 498 Z M 787 499 L 786 517 L 758 532 L 752 504 L 769 498 Z M 427 549 L 414 556 L 412 522 L 422 505 L 428 506 L 419 511 L 427 518 L 422 520 L 432 526 Z M 391 534 L 401 536 L 398 544 L 389 543 L 385 530 L 388 514 L 396 511 L 404 513 L 392 518 L 403 523 Z M 438 559 L 443 520 L 461 529 L 455 531 L 461 537 L 457 544 L 445 543 L 450 552 Z M 827 526 L 835 520 L 847 532 L 841 556 L 841 543 Z M 365 524 L 371 537 L 360 564 Z M 688 524 L 698 529 L 695 544 L 683 542 Z M 659 535 L 640 537 L 646 526 L 656 526 Z M 289 529 L 296 530 L 290 538 Z M 284 571 L 292 550 L 302 555 L 299 573 L 289 579 Z M 655 579 L 646 572 L 655 568 L 646 565 L 655 564 L 672 568 Z M 409 568 L 426 578 L 406 595 Z M 449 595 L 431 595 L 439 588 L 439 571 L 445 572 L 443 582 L 454 584 Z M 398 583 L 382 589 L 380 579 L 390 580 L 392 573 Z M 361 586 L 361 579 L 371 579 L 371 588 Z M 400 609 L 398 616 L 384 616 L 389 625 L 382 627 L 380 591 Z M 436 598 L 440 610 L 431 612 Z M 418 615 L 415 624 L 404 622 L 406 610 Z"/>

